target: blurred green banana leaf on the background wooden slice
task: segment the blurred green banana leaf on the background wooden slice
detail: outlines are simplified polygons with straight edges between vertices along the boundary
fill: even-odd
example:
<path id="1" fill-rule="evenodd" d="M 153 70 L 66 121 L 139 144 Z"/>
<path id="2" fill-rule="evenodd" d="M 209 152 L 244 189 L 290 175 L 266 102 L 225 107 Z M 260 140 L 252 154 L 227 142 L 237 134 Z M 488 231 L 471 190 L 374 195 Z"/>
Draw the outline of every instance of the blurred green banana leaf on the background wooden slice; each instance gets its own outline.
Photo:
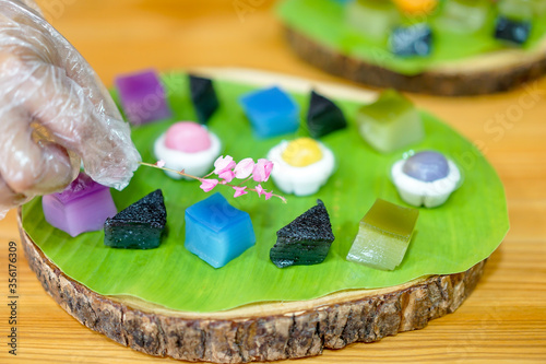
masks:
<path id="1" fill-rule="evenodd" d="M 447 61 L 507 49 L 505 44 L 494 37 L 495 9 L 491 9 L 491 16 L 488 17 L 486 26 L 471 35 L 446 31 L 441 23 L 434 21 L 434 15 L 423 19 L 434 31 L 432 54 L 428 57 L 402 58 L 394 57 L 389 50 L 387 37 L 373 40 L 348 25 L 344 7 L 345 4 L 332 0 L 283 0 L 277 7 L 277 14 L 290 28 L 297 30 L 319 44 L 407 75 L 418 74 Z M 545 34 L 546 12 L 537 14 L 532 21 L 530 38 L 521 48 L 535 48 L 543 42 Z"/>

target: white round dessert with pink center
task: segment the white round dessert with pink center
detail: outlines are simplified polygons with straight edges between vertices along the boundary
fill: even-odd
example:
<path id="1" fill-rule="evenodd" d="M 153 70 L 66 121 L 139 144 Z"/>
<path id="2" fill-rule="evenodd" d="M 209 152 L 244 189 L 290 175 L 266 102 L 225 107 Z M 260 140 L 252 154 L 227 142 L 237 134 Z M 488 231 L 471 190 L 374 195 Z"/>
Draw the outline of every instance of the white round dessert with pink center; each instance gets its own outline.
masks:
<path id="1" fill-rule="evenodd" d="M 165 162 L 165 167 L 185 169 L 186 173 L 198 177 L 211 171 L 221 149 L 222 143 L 216 134 L 192 121 L 174 124 L 154 144 L 155 156 Z M 165 173 L 175 179 L 185 178 L 174 172 Z"/>

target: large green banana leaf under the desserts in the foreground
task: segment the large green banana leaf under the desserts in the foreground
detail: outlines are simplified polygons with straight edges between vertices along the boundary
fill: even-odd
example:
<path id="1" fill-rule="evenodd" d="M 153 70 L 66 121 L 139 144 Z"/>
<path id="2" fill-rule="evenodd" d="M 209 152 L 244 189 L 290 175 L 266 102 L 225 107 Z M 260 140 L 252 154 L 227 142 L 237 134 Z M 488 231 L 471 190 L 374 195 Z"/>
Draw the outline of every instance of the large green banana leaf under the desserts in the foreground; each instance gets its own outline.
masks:
<path id="1" fill-rule="evenodd" d="M 133 129 L 133 140 L 146 162 L 155 162 L 154 140 L 176 120 L 195 119 L 185 74 L 165 75 L 175 110 L 171 120 Z M 305 136 L 305 127 L 294 136 L 258 140 L 238 97 L 253 87 L 216 82 L 221 108 L 210 122 L 224 144 L 224 153 L 235 160 L 263 157 L 283 138 Z M 308 95 L 293 94 L 301 105 L 304 119 Z M 415 150 L 443 152 L 462 169 L 464 183 L 436 209 L 420 209 L 416 233 L 407 254 L 393 271 L 375 270 L 345 257 L 358 231 L 358 222 L 376 198 L 404 204 L 389 178 L 393 162 L 402 152 L 383 155 L 360 138 L 355 126 L 358 104 L 337 101 L 348 119 L 348 128 L 329 134 L 322 142 L 335 155 L 337 167 L 320 191 L 310 197 L 286 196 L 265 201 L 256 193 L 234 199 L 233 190 L 218 186 L 233 206 L 247 211 L 257 244 L 227 266 L 214 269 L 183 247 L 185 209 L 209 195 L 199 183 L 173 180 L 162 171 L 141 167 L 123 191 L 112 190 L 116 206 L 124 209 L 146 193 L 162 188 L 167 207 L 168 235 L 157 249 L 124 250 L 104 245 L 104 233 L 85 233 L 75 238 L 51 227 L 44 219 L 40 199 L 23 209 L 23 225 L 44 254 L 67 275 L 103 295 L 130 295 L 168 308 L 186 312 L 217 312 L 271 301 L 299 301 L 348 289 L 387 287 L 428 274 L 464 271 L 487 258 L 508 231 L 508 213 L 502 184 L 494 168 L 463 137 L 435 117 L 423 113 L 426 140 Z M 305 124 L 305 122 L 304 122 Z M 274 189 L 273 181 L 266 183 Z M 276 231 L 316 204 L 324 201 L 335 235 L 325 261 L 317 266 L 276 268 L 269 251 Z"/>

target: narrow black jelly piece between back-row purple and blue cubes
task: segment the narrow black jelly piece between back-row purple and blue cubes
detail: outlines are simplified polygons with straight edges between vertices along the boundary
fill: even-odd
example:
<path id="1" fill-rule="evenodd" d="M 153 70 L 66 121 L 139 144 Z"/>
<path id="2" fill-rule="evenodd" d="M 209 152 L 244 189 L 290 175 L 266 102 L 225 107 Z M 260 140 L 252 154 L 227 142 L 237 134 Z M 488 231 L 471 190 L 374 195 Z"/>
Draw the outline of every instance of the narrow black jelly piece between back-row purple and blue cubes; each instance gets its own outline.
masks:
<path id="1" fill-rule="evenodd" d="M 218 96 L 214 90 L 212 80 L 189 75 L 191 101 L 195 107 L 198 120 L 201 124 L 207 124 L 209 119 L 219 106 Z"/>

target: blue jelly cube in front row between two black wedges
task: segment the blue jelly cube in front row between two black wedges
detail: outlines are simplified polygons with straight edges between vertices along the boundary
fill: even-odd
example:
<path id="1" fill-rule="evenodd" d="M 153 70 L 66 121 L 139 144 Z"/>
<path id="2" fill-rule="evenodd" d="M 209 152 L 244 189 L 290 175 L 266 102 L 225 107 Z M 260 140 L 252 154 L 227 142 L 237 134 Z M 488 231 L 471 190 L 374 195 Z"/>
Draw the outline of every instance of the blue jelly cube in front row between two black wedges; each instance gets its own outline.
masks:
<path id="1" fill-rule="evenodd" d="M 214 193 L 186 210 L 186 248 L 214 268 L 224 267 L 256 243 L 250 215 Z"/>

